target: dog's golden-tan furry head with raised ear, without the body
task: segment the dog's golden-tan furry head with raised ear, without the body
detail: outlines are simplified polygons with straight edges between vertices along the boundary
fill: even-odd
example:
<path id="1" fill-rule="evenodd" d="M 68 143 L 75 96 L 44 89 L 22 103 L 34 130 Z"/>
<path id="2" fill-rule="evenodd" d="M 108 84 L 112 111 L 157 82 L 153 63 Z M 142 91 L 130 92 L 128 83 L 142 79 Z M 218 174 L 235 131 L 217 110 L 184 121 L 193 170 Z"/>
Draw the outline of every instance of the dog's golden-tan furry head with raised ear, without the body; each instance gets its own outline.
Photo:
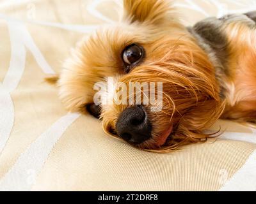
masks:
<path id="1" fill-rule="evenodd" d="M 99 82 L 108 89 L 100 90 L 95 106 Z M 143 84 L 141 101 L 135 86 L 136 94 L 122 90 L 122 103 L 116 103 L 121 83 Z M 164 0 L 124 0 L 122 21 L 81 41 L 59 85 L 69 110 L 100 111 L 106 133 L 141 149 L 165 151 L 198 142 L 222 110 L 207 54 Z M 156 100 L 147 101 L 148 96 Z"/>

